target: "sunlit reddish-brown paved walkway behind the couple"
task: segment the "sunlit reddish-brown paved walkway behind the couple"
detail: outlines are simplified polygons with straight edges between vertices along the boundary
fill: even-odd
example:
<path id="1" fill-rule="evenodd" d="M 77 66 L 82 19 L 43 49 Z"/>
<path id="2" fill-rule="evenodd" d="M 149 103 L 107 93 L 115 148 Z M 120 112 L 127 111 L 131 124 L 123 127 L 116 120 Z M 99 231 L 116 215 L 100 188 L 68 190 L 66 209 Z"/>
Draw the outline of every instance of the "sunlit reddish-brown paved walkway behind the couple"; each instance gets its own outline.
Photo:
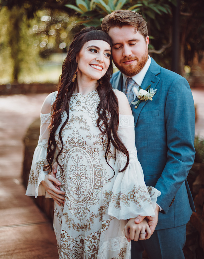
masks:
<path id="1" fill-rule="evenodd" d="M 193 90 L 196 134 L 204 138 L 204 91 Z M 25 196 L 23 136 L 40 114 L 46 94 L 0 96 L 0 258 L 57 259 L 52 224 Z"/>

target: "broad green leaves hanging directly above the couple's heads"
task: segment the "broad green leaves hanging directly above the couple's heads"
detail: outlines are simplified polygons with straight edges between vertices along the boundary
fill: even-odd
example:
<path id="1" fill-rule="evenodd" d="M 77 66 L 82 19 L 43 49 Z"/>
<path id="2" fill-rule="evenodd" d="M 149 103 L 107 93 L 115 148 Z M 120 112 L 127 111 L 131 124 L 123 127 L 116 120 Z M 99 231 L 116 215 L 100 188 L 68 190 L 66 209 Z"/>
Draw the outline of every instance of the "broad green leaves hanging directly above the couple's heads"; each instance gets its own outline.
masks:
<path id="1" fill-rule="evenodd" d="M 148 21 L 155 20 L 157 15 L 170 15 L 170 2 L 175 4 L 175 0 L 76 0 L 75 5 L 66 4 L 67 8 L 73 9 L 79 15 L 77 24 L 84 26 L 100 26 L 101 20 L 115 10 L 124 9 L 141 12 L 143 17 Z M 157 24 L 159 27 L 159 24 Z M 159 28 L 160 29 L 160 28 Z"/>

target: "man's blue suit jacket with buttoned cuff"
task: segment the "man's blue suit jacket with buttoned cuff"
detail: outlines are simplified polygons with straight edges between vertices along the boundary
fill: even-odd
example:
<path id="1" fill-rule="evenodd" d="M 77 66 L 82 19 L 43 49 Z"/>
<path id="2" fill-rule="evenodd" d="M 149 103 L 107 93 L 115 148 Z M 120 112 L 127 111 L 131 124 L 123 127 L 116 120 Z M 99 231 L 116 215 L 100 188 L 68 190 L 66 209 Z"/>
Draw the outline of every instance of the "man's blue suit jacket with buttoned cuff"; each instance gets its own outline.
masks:
<path id="1" fill-rule="evenodd" d="M 113 74 L 113 88 L 122 90 L 122 81 L 120 71 Z M 159 213 L 156 229 L 164 229 L 186 224 L 195 211 L 186 180 L 195 156 L 194 103 L 187 80 L 153 59 L 141 87 L 150 84 L 157 89 L 153 100 L 141 101 L 137 109 L 131 104 L 131 108 L 146 185 L 161 191 L 157 203 L 164 211 Z"/>

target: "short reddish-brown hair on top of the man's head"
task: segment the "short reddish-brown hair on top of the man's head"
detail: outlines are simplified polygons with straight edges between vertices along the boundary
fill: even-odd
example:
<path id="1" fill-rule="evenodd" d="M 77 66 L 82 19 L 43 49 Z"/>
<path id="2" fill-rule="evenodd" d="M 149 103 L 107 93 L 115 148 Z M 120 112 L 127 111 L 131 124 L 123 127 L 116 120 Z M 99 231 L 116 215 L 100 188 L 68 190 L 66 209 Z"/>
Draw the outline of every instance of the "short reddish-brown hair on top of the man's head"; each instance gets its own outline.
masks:
<path id="1" fill-rule="evenodd" d="M 135 32 L 140 32 L 142 36 L 146 39 L 148 35 L 147 23 L 142 17 L 134 11 L 129 10 L 117 10 L 108 14 L 102 20 L 102 30 L 108 33 L 110 28 L 119 27 L 124 25 L 131 25 L 134 27 Z"/>

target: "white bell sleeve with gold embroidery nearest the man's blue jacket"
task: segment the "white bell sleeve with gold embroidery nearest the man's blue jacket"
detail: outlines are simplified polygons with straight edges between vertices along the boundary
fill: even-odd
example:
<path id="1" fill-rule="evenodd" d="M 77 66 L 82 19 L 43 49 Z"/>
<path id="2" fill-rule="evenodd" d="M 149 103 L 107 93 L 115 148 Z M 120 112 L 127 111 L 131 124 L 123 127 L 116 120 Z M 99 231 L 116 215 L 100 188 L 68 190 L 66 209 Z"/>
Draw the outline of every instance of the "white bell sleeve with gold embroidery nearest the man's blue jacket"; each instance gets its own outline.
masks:
<path id="1" fill-rule="evenodd" d="M 154 187 L 146 186 L 142 167 L 138 161 L 134 141 L 134 117 L 119 115 L 118 136 L 129 152 L 130 162 L 123 172 L 127 157 L 116 150 L 115 181 L 108 207 L 108 214 L 117 219 L 137 216 L 155 216 L 157 197 L 161 194 Z"/>

